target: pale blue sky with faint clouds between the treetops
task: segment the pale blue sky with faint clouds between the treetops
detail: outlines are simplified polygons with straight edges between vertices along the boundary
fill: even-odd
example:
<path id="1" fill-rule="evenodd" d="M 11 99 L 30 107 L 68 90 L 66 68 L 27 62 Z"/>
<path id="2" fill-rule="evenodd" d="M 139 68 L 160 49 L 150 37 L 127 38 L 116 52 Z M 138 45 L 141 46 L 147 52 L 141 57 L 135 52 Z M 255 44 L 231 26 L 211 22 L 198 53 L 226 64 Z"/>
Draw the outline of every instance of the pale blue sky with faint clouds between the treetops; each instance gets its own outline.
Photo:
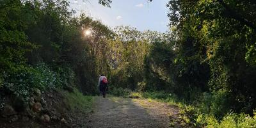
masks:
<path id="1" fill-rule="evenodd" d="M 69 0 L 77 14 L 86 13 L 107 26 L 132 26 L 140 31 L 165 32 L 168 30 L 169 0 L 113 0 L 111 8 L 98 4 L 98 0 Z"/>

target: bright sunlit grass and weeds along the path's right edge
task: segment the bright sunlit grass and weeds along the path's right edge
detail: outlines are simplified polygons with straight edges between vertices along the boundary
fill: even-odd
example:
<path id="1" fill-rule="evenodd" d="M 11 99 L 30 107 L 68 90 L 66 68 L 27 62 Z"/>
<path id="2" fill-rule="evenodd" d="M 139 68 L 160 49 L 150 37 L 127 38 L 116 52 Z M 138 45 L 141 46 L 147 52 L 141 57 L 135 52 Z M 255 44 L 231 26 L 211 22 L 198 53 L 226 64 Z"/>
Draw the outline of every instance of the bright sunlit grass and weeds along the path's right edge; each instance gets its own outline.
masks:
<path id="1" fill-rule="evenodd" d="M 200 97 L 198 101 L 191 104 L 177 98 L 177 96 L 173 94 L 164 92 L 132 92 L 130 96 L 154 99 L 159 102 L 166 102 L 170 105 L 179 106 L 181 114 L 180 118 L 184 120 L 186 124 L 193 125 L 193 127 L 256 127 L 256 113 L 254 113 L 254 116 L 250 116 L 244 113 L 237 114 L 225 112 L 225 110 L 223 110 L 223 118 L 216 116 L 220 111 L 217 111 L 214 106 L 219 106 L 220 109 L 223 109 L 224 107 L 220 102 L 225 99 L 224 97 L 221 97 L 222 93 L 223 92 L 216 93 L 215 95 L 207 95 L 207 97 Z M 170 124 L 172 124 L 172 122 L 170 122 Z"/>

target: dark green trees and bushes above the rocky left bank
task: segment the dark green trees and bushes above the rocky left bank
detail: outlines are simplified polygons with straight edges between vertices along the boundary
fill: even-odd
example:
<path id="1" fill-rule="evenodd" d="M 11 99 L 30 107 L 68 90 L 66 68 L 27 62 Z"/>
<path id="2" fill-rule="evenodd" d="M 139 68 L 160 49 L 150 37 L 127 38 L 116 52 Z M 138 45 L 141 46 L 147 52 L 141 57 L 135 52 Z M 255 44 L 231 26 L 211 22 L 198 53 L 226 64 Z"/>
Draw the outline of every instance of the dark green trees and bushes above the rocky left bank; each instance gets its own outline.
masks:
<path id="1" fill-rule="evenodd" d="M 11 1 L 0 3 L 0 92 L 28 98 L 42 91 L 77 86 L 98 93 L 97 57 L 111 30 L 81 15 L 72 17 L 67 1 Z M 93 37 L 84 36 L 93 29 Z"/>

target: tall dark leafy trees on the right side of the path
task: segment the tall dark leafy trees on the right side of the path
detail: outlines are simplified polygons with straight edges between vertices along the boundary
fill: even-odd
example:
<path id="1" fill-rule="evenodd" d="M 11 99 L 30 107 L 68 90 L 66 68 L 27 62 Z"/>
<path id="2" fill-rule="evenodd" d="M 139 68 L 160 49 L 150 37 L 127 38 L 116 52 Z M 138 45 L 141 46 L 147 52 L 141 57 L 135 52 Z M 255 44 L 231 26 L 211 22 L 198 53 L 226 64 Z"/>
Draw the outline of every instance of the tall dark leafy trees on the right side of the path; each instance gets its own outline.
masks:
<path id="1" fill-rule="evenodd" d="M 168 6 L 170 25 L 179 33 L 178 61 L 185 63 L 183 69 L 190 68 L 185 76 L 192 79 L 189 83 L 211 92 L 226 90 L 233 101 L 230 108 L 252 113 L 255 2 L 173 0 Z"/>

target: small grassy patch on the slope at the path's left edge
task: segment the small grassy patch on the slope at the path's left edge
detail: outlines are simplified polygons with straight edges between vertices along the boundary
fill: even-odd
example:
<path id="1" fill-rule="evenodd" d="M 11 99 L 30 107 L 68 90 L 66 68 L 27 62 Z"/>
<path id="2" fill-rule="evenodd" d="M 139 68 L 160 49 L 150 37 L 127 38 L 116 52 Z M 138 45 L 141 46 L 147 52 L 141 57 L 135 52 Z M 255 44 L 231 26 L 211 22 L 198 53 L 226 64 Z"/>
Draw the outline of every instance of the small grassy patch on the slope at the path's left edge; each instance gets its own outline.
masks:
<path id="1" fill-rule="evenodd" d="M 74 92 L 62 92 L 65 96 L 65 102 L 70 106 L 71 110 L 74 111 L 79 109 L 84 112 L 92 111 L 93 97 L 83 95 L 79 90 L 74 89 Z"/>

